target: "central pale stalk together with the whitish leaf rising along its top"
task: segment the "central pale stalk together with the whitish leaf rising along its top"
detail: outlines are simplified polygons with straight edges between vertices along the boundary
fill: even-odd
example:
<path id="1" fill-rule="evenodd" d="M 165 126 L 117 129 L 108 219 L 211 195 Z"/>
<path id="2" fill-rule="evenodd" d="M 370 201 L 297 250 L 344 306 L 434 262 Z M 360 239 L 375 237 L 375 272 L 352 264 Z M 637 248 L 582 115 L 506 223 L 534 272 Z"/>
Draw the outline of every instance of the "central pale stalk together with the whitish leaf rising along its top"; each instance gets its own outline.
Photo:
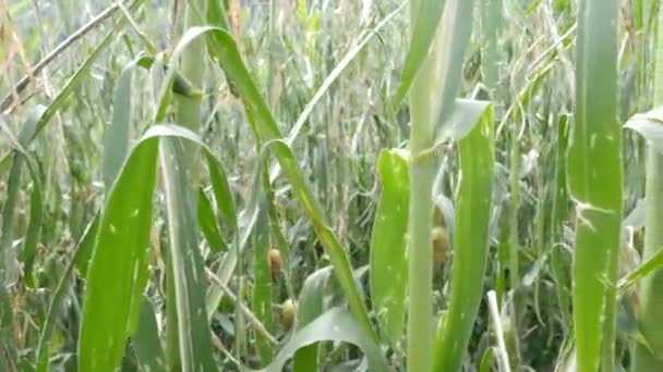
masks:
<path id="1" fill-rule="evenodd" d="M 437 122 L 450 116 L 462 72 L 462 61 L 471 34 L 473 1 L 445 1 L 442 17 L 432 21 L 427 14 L 442 5 L 434 0 L 410 1 L 413 29 L 419 22 L 434 22 L 436 29 L 429 53 L 423 53 L 411 80 L 410 91 L 410 202 L 408 221 L 409 308 L 408 371 L 431 371 L 433 368 L 433 314 L 431 230 L 433 216 L 433 182 L 436 173 L 435 145 Z M 421 42 L 421 34 L 412 34 L 412 46 Z M 427 48 L 426 48 L 427 49 Z M 417 49 L 409 52 L 408 59 Z M 401 88 L 410 82 L 403 80 Z M 399 95 L 397 95 L 398 98 Z"/>

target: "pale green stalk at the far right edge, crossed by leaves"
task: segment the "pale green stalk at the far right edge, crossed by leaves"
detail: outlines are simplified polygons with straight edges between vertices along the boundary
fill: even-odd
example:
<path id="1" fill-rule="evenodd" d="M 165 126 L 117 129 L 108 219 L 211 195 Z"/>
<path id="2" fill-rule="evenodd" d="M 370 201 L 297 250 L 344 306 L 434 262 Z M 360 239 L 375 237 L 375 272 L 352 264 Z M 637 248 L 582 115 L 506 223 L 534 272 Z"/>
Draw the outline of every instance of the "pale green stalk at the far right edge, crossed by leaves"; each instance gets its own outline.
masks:
<path id="1" fill-rule="evenodd" d="M 659 22 L 663 11 L 659 9 Z M 663 46 L 659 28 L 655 51 L 654 107 L 663 106 Z M 644 250 L 642 260 L 653 257 L 663 246 L 663 149 L 649 144 L 647 150 Z M 649 347 L 636 343 L 632 371 L 663 371 L 663 269 L 642 278 L 638 323 Z"/>

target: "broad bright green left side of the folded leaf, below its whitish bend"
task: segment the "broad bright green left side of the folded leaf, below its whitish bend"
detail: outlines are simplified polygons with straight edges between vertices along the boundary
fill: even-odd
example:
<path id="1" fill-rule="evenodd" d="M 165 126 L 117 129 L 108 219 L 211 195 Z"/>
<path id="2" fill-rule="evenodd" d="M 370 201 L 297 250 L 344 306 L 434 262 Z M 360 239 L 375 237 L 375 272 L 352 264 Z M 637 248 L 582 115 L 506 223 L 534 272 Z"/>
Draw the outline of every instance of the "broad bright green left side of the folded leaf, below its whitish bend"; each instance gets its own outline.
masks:
<path id="1" fill-rule="evenodd" d="M 158 141 L 141 142 L 108 194 L 85 292 L 79 370 L 120 367 L 147 271 Z M 146 278 L 146 277 L 144 277 Z M 138 301 L 137 301 L 138 300 Z"/>

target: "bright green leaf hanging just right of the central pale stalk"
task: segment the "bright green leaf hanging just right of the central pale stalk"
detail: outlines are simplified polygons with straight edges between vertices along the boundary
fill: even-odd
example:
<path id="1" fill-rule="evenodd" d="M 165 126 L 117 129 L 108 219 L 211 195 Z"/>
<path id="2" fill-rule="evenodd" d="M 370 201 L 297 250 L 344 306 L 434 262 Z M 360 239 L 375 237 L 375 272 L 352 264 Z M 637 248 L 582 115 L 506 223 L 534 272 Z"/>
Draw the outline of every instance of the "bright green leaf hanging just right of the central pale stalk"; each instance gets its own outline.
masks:
<path id="1" fill-rule="evenodd" d="M 493 110 L 459 144 L 460 173 L 454 216 L 449 308 L 441 322 L 435 371 L 460 371 L 479 305 L 489 258 L 494 168 Z"/>

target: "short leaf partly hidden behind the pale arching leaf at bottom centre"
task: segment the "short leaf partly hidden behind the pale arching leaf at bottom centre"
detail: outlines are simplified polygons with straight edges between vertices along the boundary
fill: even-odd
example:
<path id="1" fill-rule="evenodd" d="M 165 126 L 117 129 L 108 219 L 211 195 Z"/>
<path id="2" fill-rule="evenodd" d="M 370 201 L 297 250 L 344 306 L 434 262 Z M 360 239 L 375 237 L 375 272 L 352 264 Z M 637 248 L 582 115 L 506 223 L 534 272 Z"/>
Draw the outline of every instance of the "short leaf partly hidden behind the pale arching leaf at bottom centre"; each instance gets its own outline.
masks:
<path id="1" fill-rule="evenodd" d="M 320 269 L 304 281 L 297 302 L 297 317 L 294 319 L 297 331 L 309 325 L 323 313 L 325 285 L 332 274 L 330 269 L 330 266 Z M 317 371 L 317 344 L 311 344 L 297 350 L 292 367 L 294 372 Z"/>

